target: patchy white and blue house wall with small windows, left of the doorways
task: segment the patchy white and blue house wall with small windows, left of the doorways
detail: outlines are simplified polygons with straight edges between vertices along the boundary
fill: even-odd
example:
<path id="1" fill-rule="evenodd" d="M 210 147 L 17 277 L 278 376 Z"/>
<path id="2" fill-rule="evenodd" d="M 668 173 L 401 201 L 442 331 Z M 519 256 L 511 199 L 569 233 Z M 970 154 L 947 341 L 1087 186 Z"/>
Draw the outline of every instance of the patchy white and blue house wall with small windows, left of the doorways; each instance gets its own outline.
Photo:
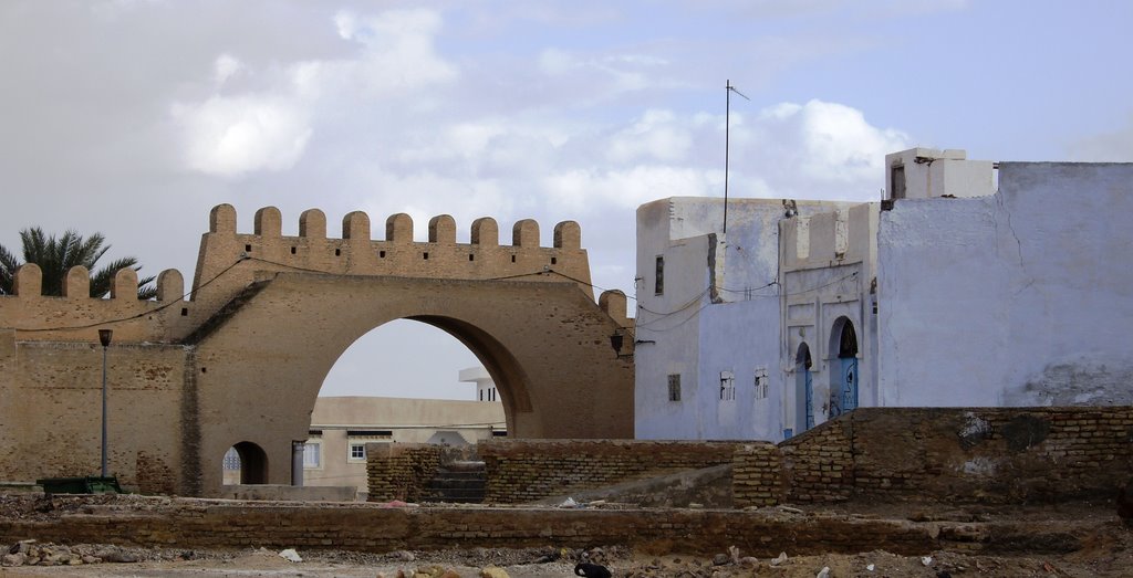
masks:
<path id="1" fill-rule="evenodd" d="M 830 205 L 795 204 L 815 214 Z M 638 209 L 634 412 L 639 439 L 781 439 L 778 222 L 781 200 L 671 198 Z M 655 295 L 656 257 L 665 258 Z M 734 399 L 721 399 L 721 374 Z M 767 397 L 757 395 L 757 372 Z M 681 374 L 681 400 L 667 376 Z"/>

